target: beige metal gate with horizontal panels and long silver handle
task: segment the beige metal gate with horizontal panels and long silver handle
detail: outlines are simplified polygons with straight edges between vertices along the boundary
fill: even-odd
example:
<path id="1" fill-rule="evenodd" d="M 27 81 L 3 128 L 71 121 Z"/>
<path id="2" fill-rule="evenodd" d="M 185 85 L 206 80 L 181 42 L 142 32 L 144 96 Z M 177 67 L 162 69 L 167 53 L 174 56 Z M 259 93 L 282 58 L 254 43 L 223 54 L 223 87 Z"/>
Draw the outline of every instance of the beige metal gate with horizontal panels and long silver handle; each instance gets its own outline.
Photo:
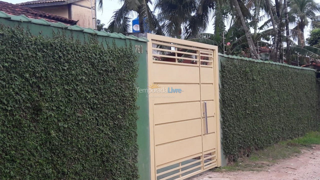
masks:
<path id="1" fill-rule="evenodd" d="M 220 166 L 217 46 L 147 37 L 151 179 Z"/>

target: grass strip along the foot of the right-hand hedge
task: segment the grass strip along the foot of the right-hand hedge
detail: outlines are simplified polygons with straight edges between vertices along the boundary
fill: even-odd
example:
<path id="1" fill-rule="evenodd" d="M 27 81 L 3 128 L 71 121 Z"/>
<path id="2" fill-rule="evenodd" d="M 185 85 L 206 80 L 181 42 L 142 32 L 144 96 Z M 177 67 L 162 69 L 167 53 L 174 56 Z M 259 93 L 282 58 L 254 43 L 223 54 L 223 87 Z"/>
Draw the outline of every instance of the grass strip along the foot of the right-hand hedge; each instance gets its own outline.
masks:
<path id="1" fill-rule="evenodd" d="M 261 171 L 279 160 L 298 156 L 301 149 L 308 148 L 312 144 L 320 144 L 320 130 L 254 151 L 249 157 L 239 158 L 237 162 L 230 163 L 225 167 L 214 168 L 212 171 Z"/>

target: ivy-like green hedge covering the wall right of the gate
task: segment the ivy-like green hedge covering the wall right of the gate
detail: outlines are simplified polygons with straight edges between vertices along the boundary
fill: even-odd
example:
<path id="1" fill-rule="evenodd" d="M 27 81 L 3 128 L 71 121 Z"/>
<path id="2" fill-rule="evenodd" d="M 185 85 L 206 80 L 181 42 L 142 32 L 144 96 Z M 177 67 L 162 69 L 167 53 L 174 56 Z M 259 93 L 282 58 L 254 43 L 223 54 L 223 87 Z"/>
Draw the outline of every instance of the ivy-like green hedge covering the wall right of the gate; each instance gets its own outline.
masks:
<path id="1" fill-rule="evenodd" d="M 222 145 L 228 160 L 320 126 L 315 71 L 221 58 Z"/>

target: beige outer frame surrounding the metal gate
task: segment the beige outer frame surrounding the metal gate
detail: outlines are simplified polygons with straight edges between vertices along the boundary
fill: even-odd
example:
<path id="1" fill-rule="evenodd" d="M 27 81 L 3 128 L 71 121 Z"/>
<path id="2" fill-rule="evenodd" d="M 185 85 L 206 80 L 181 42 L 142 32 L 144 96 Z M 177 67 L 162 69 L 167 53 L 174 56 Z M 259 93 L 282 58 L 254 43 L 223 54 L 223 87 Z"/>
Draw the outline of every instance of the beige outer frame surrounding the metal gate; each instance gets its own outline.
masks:
<path id="1" fill-rule="evenodd" d="M 159 41 L 165 41 L 167 43 L 176 43 L 180 45 L 187 45 L 202 49 L 210 49 L 213 50 L 213 69 L 214 69 L 214 85 L 215 85 L 215 100 L 216 100 L 216 161 L 217 161 L 217 167 L 221 166 L 221 139 L 220 139 L 220 103 L 219 103 L 219 59 L 218 59 L 218 46 L 215 45 L 208 45 L 204 43 L 198 43 L 183 39 L 177 39 L 172 37 L 165 37 L 155 34 L 147 34 L 147 39 L 149 40 L 147 42 L 147 64 L 148 64 L 148 85 L 152 84 L 150 80 L 153 79 L 152 73 L 150 70 L 152 70 L 152 62 L 153 61 L 153 53 L 152 53 L 152 40 L 159 40 Z M 200 60 L 200 57 L 199 57 Z M 199 61 L 200 63 L 200 61 Z M 200 64 L 199 64 L 200 66 Z M 200 68 L 200 67 L 199 67 Z M 201 84 L 200 84 L 201 86 Z M 149 95 L 149 94 L 148 94 Z M 156 166 L 155 166 L 155 141 L 154 141 L 154 118 L 153 118 L 153 101 L 148 99 L 149 101 L 149 132 L 150 132 L 150 170 L 151 170 L 151 180 L 156 180 Z M 201 172 L 204 172 L 206 170 L 211 169 L 212 167 L 205 168 Z M 199 173 L 201 173 L 199 172 Z M 194 174 L 192 174 L 194 176 Z M 185 178 L 190 177 L 187 175 Z"/>

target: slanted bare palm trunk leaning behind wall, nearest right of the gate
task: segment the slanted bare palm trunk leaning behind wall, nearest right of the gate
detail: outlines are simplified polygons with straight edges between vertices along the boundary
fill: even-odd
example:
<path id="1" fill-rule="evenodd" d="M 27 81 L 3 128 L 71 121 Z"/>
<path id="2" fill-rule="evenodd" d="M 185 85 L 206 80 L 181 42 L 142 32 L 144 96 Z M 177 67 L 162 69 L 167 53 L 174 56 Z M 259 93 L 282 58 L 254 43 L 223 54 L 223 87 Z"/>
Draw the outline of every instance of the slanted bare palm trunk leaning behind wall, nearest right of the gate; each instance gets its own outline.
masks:
<path id="1" fill-rule="evenodd" d="M 244 21 L 244 17 L 243 17 L 243 14 L 241 12 L 241 9 L 240 9 L 240 6 L 238 4 L 238 1 L 237 0 L 233 0 L 233 4 L 234 4 L 234 6 L 236 8 L 236 12 L 237 12 L 238 16 L 240 17 L 242 26 L 244 28 L 244 32 L 245 32 L 245 36 L 247 37 L 247 41 L 248 41 L 251 57 L 254 58 L 254 59 L 259 59 L 259 55 L 257 53 L 256 47 L 254 46 L 254 43 L 253 43 L 249 28 L 247 27 L 247 25 L 246 25 L 246 23 Z"/>

